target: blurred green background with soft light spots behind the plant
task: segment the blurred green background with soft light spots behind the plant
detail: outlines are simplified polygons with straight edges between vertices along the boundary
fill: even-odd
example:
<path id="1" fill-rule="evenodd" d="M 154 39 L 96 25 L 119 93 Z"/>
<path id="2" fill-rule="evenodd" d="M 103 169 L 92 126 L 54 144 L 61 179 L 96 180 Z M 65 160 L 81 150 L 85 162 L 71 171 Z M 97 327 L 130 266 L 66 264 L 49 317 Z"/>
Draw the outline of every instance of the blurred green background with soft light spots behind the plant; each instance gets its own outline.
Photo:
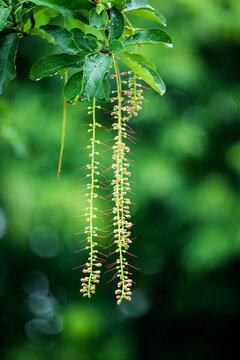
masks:
<path id="1" fill-rule="evenodd" d="M 153 0 L 174 48 L 145 46 L 167 93 L 146 92 L 136 131 L 131 303 L 114 283 L 79 293 L 73 216 L 86 162 L 83 104 L 68 110 L 56 179 L 62 80 L 28 79 L 53 49 L 22 41 L 0 98 L 0 344 L 3 360 L 202 360 L 239 356 L 240 2 Z M 135 21 L 156 27 L 147 20 Z M 98 118 L 109 127 L 104 112 Z M 102 282 L 109 279 L 107 274 Z M 235 354 L 235 355 L 233 355 Z"/>

